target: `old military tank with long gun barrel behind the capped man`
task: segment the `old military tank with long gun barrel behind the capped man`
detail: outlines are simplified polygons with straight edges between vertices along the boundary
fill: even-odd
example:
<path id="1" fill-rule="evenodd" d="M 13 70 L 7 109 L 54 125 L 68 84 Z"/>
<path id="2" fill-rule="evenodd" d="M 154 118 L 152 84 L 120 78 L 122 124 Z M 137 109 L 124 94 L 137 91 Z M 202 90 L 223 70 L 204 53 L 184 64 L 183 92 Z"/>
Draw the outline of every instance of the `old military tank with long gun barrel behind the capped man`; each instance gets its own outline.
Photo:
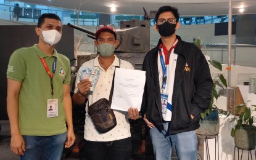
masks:
<path id="1" fill-rule="evenodd" d="M 83 31 L 87 33 L 89 38 L 95 39 L 93 31 L 71 23 L 67 25 L 76 30 Z M 115 55 L 133 64 L 135 69 L 141 70 L 144 57 L 150 49 L 150 21 L 136 19 L 128 21 L 121 20 L 120 29 L 116 31 L 120 44 L 115 49 Z M 77 67 L 80 68 L 83 63 L 96 56 L 95 54 L 78 55 Z"/>

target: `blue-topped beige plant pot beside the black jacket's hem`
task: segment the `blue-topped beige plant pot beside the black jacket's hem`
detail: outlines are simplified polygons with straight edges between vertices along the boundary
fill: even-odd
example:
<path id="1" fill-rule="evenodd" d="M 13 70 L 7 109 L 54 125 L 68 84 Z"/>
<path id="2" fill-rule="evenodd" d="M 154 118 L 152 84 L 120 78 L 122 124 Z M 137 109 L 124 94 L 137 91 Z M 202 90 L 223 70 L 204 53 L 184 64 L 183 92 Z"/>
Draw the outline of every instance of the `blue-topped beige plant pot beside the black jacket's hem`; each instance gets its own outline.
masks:
<path id="1" fill-rule="evenodd" d="M 198 138 L 212 139 L 219 134 L 219 130 L 220 118 L 218 110 L 212 110 L 204 119 L 200 119 L 200 127 L 196 130 L 196 134 Z"/>

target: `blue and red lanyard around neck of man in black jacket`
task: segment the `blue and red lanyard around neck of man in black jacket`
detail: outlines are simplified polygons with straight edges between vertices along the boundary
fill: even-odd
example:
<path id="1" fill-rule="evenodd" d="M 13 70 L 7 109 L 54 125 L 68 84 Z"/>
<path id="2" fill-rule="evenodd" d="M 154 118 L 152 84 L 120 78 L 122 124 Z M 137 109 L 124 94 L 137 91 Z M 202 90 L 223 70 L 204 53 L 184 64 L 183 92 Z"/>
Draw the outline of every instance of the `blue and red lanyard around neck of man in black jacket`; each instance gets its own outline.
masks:
<path id="1" fill-rule="evenodd" d="M 177 39 L 175 39 L 175 42 L 177 41 Z M 175 44 L 175 42 L 173 44 Z M 167 55 L 167 59 L 163 60 L 163 47 L 161 49 L 159 49 L 159 55 L 160 55 L 160 62 L 161 62 L 161 66 L 162 66 L 162 70 L 163 70 L 163 83 L 162 83 L 162 89 L 165 89 L 166 84 L 167 84 L 167 65 L 169 65 L 169 59 L 170 59 L 170 55 L 171 52 L 173 51 L 173 49 L 175 49 L 176 44 L 171 46 L 171 49 L 168 50 L 168 55 Z M 167 62 L 165 65 L 165 61 Z"/>

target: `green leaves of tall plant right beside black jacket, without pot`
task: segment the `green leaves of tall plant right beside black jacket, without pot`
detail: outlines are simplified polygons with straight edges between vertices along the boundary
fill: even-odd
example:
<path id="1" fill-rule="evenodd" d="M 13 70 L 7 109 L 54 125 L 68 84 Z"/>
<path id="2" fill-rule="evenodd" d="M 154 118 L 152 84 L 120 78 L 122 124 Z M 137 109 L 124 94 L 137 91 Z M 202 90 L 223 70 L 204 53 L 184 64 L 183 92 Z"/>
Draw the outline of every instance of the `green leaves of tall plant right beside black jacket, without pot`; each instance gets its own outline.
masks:
<path id="1" fill-rule="evenodd" d="M 218 70 L 222 71 L 222 65 L 220 62 L 218 62 L 217 60 L 208 60 L 208 62 L 210 63 L 210 65 L 214 66 L 215 68 L 217 68 Z M 223 85 L 221 85 L 221 83 L 227 87 L 226 84 L 226 79 L 224 78 L 223 74 L 218 74 L 214 79 L 213 79 L 213 86 L 212 86 L 212 98 L 211 98 L 211 102 L 210 102 L 210 107 L 208 110 L 206 110 L 204 113 L 201 113 L 201 117 L 202 119 L 205 118 L 205 116 L 209 115 L 212 110 L 214 108 L 218 107 L 216 105 L 213 104 L 213 100 L 214 98 L 217 100 L 218 99 L 218 92 L 216 90 L 216 86 L 221 87 L 222 89 L 225 89 L 223 87 Z"/>

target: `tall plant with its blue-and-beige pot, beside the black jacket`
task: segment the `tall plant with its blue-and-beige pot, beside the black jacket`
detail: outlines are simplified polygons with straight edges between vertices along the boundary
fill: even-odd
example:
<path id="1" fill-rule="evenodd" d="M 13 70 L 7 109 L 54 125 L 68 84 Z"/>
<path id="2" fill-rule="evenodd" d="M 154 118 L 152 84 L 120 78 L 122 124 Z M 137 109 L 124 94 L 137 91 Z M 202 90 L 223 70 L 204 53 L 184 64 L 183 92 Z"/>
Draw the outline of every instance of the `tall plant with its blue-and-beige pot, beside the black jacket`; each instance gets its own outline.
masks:
<path id="1" fill-rule="evenodd" d="M 209 60 L 210 65 L 222 71 L 222 65 L 216 60 Z M 209 109 L 204 113 L 201 113 L 202 119 L 200 120 L 200 127 L 196 130 L 197 137 L 199 138 L 215 138 L 219 134 L 220 129 L 220 119 L 218 117 L 218 108 L 213 104 L 214 99 L 218 100 L 217 86 L 221 89 L 227 87 L 226 79 L 223 74 L 217 74 L 213 78 L 213 87 L 212 87 L 212 98 L 210 102 Z"/>

